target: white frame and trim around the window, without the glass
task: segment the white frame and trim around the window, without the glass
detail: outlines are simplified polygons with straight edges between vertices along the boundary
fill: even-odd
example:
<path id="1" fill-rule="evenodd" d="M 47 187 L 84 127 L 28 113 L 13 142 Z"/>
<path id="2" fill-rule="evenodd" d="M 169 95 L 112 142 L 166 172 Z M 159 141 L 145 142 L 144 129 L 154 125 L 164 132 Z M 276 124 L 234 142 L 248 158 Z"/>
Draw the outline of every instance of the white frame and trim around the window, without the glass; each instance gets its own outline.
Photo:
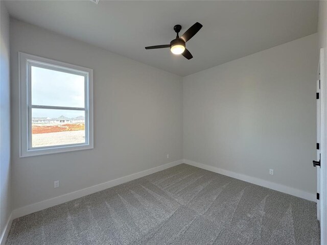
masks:
<path id="1" fill-rule="evenodd" d="M 18 52 L 19 62 L 19 157 L 93 149 L 93 70 Z M 31 66 L 51 68 L 85 78 L 85 107 L 39 106 L 31 104 Z M 85 111 L 85 143 L 32 148 L 32 108 Z"/>

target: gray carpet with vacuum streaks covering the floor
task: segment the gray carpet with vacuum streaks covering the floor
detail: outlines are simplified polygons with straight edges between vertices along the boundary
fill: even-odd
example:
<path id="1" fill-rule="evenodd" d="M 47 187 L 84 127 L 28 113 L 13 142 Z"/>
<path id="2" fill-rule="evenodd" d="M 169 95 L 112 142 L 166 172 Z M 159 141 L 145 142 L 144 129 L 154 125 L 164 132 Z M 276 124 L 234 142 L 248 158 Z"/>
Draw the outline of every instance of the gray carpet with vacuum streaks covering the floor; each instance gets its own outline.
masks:
<path id="1" fill-rule="evenodd" d="M 13 244 L 319 244 L 316 204 L 181 164 L 13 221 Z"/>

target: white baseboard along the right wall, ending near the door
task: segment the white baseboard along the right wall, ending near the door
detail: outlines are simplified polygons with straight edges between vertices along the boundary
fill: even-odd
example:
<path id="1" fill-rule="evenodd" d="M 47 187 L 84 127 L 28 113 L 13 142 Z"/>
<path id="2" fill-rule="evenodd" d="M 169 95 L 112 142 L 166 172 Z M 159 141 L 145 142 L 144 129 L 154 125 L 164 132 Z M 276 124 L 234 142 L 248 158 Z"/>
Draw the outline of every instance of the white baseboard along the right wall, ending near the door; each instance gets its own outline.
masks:
<path id="1" fill-rule="evenodd" d="M 225 169 L 221 169 L 221 168 L 210 166 L 210 165 L 203 164 L 203 163 L 194 162 L 194 161 L 187 160 L 187 159 L 184 159 L 184 163 L 195 166 L 195 167 L 203 168 L 203 169 L 206 169 L 206 170 L 209 170 L 209 171 L 221 174 L 221 175 L 225 175 L 225 176 L 229 176 L 229 177 L 232 177 L 235 179 L 243 180 L 243 181 L 255 184 L 255 185 L 260 185 L 263 187 L 267 187 L 269 189 L 281 191 L 281 192 L 284 192 L 284 193 L 287 193 L 290 195 L 294 195 L 295 197 L 299 197 L 299 198 L 303 198 L 303 199 L 306 199 L 309 201 L 317 202 L 316 195 L 314 193 L 295 189 L 293 187 L 289 187 L 286 185 L 276 184 L 276 183 L 273 183 L 273 182 L 270 182 L 267 180 L 238 174 L 238 173 L 235 173 L 232 171 L 228 171 Z"/>

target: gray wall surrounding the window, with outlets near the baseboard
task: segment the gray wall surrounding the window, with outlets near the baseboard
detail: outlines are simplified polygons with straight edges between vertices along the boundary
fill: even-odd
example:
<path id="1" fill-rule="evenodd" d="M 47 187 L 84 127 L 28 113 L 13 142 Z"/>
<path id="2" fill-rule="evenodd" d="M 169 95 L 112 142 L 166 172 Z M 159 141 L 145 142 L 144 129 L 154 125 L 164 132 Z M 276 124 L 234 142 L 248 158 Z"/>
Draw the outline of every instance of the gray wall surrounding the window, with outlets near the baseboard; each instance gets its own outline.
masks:
<path id="1" fill-rule="evenodd" d="M 15 19 L 10 37 L 15 208 L 183 158 L 181 77 Z M 18 51 L 94 69 L 95 149 L 18 157 Z"/>

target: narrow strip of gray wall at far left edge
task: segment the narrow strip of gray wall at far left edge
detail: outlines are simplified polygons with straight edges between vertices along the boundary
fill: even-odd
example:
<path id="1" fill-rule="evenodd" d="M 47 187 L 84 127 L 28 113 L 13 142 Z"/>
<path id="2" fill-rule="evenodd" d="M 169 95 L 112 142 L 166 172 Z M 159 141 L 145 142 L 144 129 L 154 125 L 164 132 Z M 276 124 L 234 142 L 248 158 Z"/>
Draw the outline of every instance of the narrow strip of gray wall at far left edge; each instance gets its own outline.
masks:
<path id="1" fill-rule="evenodd" d="M 0 1 L 0 237 L 11 213 L 9 14 Z"/>

